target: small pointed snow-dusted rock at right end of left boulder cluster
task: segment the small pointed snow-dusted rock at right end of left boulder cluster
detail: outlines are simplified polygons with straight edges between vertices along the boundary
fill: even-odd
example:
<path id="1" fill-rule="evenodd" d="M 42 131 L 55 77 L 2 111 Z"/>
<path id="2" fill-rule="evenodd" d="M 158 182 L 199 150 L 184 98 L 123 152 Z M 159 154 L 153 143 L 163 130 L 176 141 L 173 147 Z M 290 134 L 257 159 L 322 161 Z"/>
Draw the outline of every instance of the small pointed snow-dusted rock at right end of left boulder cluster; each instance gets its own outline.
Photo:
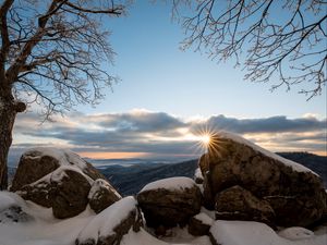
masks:
<path id="1" fill-rule="evenodd" d="M 88 193 L 89 207 L 99 213 L 113 203 L 121 199 L 121 195 L 105 180 L 96 180 Z"/>

